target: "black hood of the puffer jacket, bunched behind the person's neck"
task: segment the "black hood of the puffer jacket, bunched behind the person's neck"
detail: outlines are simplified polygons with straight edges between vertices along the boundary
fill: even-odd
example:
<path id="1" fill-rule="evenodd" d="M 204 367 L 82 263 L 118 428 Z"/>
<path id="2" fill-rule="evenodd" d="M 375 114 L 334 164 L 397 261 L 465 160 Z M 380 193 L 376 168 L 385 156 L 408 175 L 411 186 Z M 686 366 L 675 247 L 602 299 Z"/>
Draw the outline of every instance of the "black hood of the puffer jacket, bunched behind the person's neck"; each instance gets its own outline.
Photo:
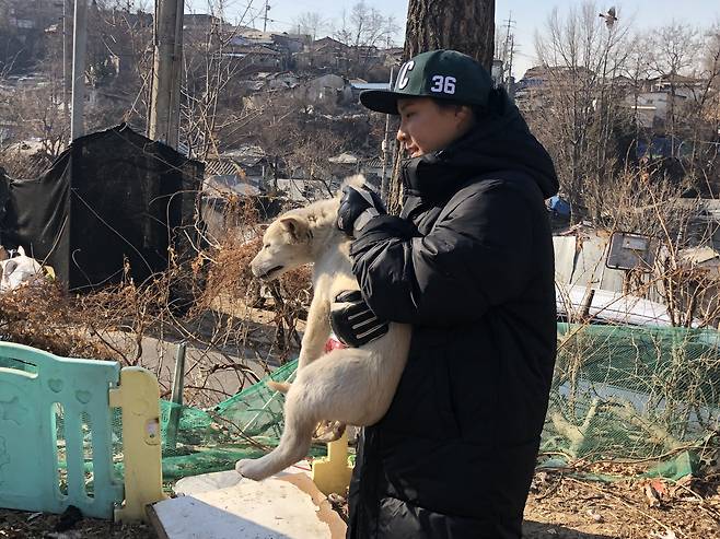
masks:
<path id="1" fill-rule="evenodd" d="M 534 178 L 544 198 L 558 191 L 553 160 L 530 132 L 504 90 L 495 91 L 493 113 L 443 150 L 403 162 L 409 195 L 442 198 L 473 177 L 520 171 Z"/>

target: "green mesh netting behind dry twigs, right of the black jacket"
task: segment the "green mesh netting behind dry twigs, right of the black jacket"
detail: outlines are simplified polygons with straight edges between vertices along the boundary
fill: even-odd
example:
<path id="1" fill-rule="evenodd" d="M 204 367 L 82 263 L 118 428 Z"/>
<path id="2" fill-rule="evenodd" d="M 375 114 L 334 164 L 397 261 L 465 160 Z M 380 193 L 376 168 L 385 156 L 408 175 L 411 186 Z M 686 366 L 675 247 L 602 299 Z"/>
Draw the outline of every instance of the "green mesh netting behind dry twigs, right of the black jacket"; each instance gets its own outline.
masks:
<path id="1" fill-rule="evenodd" d="M 637 460 L 702 452 L 720 427 L 720 333 L 558 324 L 543 450 Z"/>

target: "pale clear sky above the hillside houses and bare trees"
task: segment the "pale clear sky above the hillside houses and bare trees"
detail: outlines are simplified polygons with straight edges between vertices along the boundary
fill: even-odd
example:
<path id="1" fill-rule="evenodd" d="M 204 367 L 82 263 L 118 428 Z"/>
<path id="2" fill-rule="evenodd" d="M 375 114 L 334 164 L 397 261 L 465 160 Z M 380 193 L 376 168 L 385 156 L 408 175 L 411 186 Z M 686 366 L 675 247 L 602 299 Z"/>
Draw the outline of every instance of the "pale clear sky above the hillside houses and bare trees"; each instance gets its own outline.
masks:
<path id="1" fill-rule="evenodd" d="M 208 1 L 218 0 L 185 0 L 186 12 L 207 12 Z M 358 0 L 267 0 L 270 5 L 268 30 L 275 32 L 292 32 L 293 21 L 305 12 L 320 13 L 330 24 L 339 26 L 342 11 L 348 13 Z M 249 2 L 249 15 L 255 16 L 254 24 L 248 26 L 263 27 L 262 14 L 265 0 L 225 0 L 227 19 L 239 22 Z M 398 33 L 395 45 L 400 46 L 405 34 L 408 0 L 365 0 L 369 7 L 375 8 L 385 16 L 393 15 Z M 525 70 L 535 65 L 534 36 L 543 32 L 548 14 L 554 8 L 560 13 L 567 12 L 572 5 L 579 7 L 582 0 L 496 0 L 495 19 L 499 31 L 504 36 L 507 21 L 512 16 L 515 42 L 515 58 L 513 75 L 521 79 Z M 718 0 L 626 0 L 605 2 L 596 1 L 600 11 L 606 11 L 615 5 L 618 13 L 618 24 L 631 24 L 637 30 L 651 30 L 670 24 L 675 20 L 693 26 L 708 27 L 712 23 L 720 24 L 720 1 Z M 249 17 L 248 17 L 249 19 Z"/>

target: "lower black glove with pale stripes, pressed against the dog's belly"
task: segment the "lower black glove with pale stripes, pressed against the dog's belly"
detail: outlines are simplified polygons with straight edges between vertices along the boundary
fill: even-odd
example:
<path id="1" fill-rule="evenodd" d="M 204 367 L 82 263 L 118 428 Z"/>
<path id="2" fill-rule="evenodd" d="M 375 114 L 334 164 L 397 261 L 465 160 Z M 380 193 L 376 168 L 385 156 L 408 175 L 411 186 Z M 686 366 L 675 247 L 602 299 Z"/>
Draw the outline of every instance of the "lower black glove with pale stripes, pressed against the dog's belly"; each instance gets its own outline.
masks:
<path id="1" fill-rule="evenodd" d="M 348 304 L 330 310 L 333 331 L 346 347 L 362 347 L 387 332 L 390 325 L 378 319 L 359 290 L 340 292 L 335 302 Z"/>

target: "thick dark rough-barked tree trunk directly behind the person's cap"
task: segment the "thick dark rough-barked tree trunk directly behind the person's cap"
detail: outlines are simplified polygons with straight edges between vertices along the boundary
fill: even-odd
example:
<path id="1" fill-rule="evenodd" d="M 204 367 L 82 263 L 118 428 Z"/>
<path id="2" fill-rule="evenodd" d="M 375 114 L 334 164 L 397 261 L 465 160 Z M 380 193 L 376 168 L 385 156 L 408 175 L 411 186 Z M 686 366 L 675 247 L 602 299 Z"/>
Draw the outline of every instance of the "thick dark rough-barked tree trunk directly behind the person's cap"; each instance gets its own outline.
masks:
<path id="1" fill-rule="evenodd" d="M 478 60 L 488 72 L 495 51 L 495 0 L 409 0 L 404 60 L 433 49 L 454 49 Z M 387 207 L 402 206 L 400 149 L 395 148 Z"/>

